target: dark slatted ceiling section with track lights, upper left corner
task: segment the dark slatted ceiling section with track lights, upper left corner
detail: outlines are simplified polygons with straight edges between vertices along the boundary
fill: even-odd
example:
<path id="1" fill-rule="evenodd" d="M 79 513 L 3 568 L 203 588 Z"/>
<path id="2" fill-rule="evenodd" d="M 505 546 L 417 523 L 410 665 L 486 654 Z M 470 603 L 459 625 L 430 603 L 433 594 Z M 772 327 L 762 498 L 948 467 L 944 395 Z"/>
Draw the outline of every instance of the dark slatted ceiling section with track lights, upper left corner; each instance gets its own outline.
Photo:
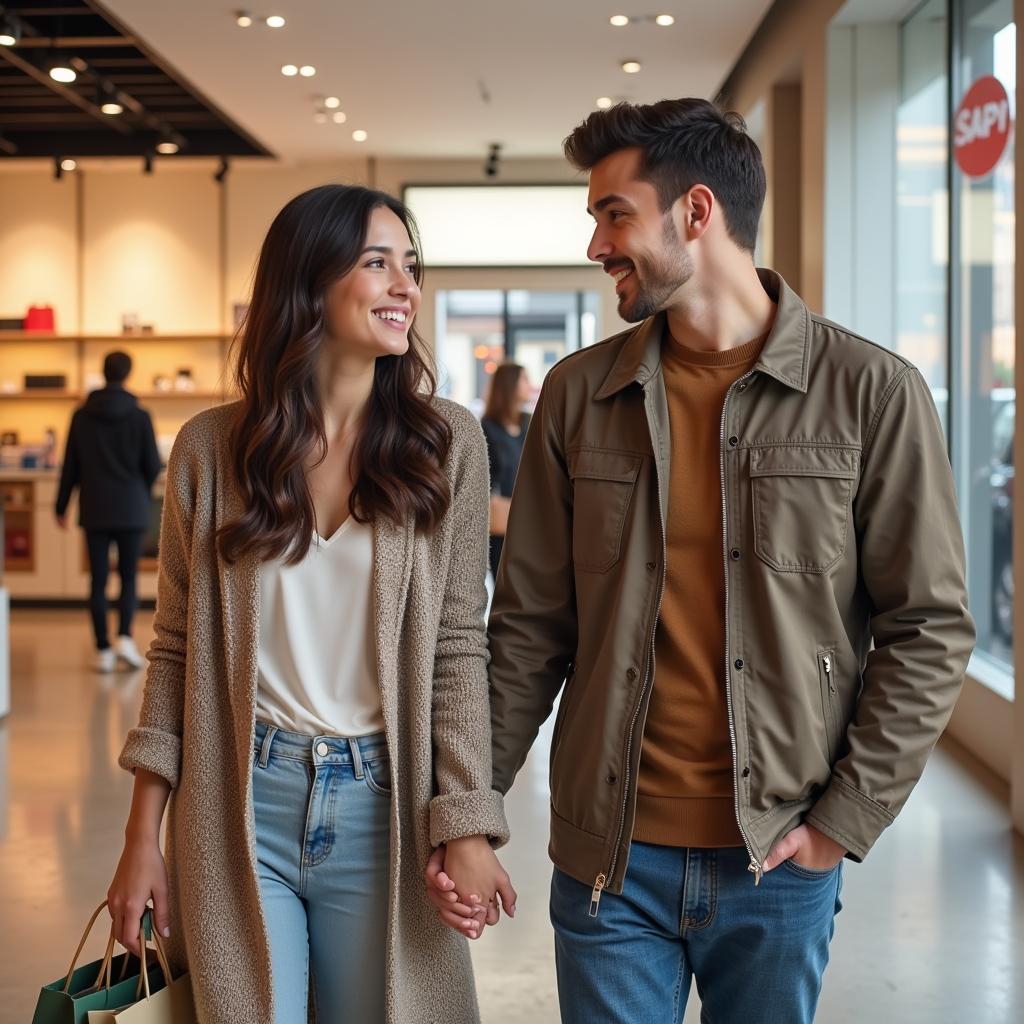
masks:
<path id="1" fill-rule="evenodd" d="M 266 155 L 90 0 L 0 0 L 0 13 L 20 36 L 0 46 L 0 158 L 143 155 L 161 141 L 193 156 Z M 74 83 L 47 74 L 57 56 L 78 71 Z M 115 99 L 123 113 L 102 113 Z"/>

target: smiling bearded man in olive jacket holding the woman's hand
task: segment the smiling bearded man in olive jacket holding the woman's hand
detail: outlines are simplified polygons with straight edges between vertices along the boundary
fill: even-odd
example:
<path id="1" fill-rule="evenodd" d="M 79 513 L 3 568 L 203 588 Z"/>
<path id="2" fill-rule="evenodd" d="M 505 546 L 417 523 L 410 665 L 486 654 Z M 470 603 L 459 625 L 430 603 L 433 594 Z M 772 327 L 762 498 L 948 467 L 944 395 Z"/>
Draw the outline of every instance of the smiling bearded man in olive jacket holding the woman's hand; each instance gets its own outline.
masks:
<path id="1" fill-rule="evenodd" d="M 695 977 L 702 1019 L 810 1022 L 840 863 L 903 806 L 973 644 L 941 429 L 913 367 L 755 268 L 765 178 L 740 119 L 624 103 L 565 151 L 638 326 L 551 371 L 526 439 L 494 784 L 564 683 L 563 1021 L 680 1021 Z M 440 862 L 431 899 L 465 927 Z"/>

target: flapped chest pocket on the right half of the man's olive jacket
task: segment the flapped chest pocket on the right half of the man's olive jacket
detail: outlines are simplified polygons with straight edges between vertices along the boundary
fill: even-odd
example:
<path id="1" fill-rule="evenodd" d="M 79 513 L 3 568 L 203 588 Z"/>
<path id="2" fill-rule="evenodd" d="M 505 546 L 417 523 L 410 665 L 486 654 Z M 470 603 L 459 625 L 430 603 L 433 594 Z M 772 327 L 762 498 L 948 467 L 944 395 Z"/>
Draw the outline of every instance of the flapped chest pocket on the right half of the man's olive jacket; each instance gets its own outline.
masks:
<path id="1" fill-rule="evenodd" d="M 779 572 L 827 572 L 846 552 L 859 461 L 855 449 L 752 449 L 758 557 Z"/>

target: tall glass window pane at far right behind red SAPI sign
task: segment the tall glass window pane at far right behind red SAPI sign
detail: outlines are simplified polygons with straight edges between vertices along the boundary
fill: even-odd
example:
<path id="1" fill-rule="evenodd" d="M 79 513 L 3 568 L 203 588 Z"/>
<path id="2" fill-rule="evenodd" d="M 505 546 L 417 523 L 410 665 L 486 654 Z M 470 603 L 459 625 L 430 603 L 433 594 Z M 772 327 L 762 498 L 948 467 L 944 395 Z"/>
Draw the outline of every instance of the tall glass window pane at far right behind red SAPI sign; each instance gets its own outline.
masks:
<path id="1" fill-rule="evenodd" d="M 953 4 L 953 96 L 992 76 L 1015 116 L 1016 28 L 1012 0 Z M 1013 666 L 1014 390 L 1013 138 L 991 170 L 953 162 L 951 450 L 956 470 L 978 655 Z"/>

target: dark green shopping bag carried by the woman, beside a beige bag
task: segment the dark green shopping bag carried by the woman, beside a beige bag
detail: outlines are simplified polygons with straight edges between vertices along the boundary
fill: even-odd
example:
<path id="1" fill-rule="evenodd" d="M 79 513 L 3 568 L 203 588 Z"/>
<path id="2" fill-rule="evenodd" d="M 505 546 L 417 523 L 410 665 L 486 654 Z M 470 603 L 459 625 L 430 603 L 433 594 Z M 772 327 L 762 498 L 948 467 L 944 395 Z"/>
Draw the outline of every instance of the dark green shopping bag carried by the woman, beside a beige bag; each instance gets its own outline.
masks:
<path id="1" fill-rule="evenodd" d="M 103 900 L 85 926 L 85 933 L 67 975 L 40 989 L 32 1024 L 86 1024 L 90 1010 L 123 1007 L 137 997 L 136 992 L 142 985 L 139 962 L 127 952 L 114 955 L 113 926 L 102 958 L 85 967 L 76 967 L 92 926 L 105 906 L 106 901 Z M 163 986 L 162 973 L 157 965 L 151 967 L 147 974 L 151 977 L 155 975 L 154 987 Z"/>

